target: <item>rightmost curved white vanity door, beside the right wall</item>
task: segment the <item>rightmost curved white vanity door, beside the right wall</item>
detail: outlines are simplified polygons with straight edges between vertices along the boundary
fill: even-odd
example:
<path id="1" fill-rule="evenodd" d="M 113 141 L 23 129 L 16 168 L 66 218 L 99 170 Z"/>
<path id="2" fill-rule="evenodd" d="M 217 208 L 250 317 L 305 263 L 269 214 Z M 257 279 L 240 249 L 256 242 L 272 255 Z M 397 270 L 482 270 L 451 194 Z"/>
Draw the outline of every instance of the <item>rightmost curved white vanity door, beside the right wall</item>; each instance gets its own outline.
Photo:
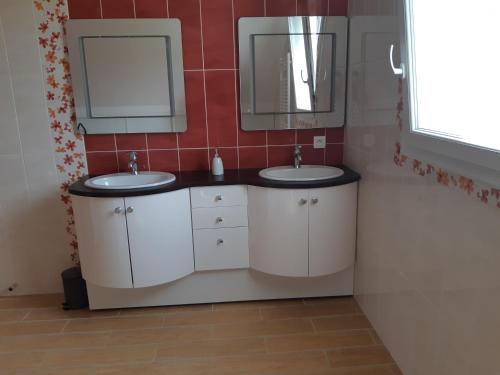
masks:
<path id="1" fill-rule="evenodd" d="M 354 264 L 357 183 L 309 192 L 309 276 Z"/>

